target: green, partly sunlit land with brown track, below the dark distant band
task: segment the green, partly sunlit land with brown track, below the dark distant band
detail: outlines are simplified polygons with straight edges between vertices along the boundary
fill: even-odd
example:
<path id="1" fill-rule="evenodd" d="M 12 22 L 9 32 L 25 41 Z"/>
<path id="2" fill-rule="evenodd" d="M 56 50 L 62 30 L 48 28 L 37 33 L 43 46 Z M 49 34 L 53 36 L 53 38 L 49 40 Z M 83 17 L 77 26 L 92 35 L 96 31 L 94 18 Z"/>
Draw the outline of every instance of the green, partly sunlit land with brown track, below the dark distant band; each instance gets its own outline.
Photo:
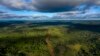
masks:
<path id="1" fill-rule="evenodd" d="M 100 56 L 100 32 L 64 25 L 1 27 L 0 56 Z"/>

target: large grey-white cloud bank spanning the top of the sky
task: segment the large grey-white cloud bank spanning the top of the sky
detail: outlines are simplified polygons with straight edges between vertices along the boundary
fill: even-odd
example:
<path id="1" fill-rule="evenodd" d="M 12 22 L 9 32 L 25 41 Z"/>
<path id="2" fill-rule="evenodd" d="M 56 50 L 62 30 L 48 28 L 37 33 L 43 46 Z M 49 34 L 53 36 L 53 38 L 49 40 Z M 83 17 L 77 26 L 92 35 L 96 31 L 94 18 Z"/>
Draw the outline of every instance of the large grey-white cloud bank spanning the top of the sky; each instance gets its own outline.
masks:
<path id="1" fill-rule="evenodd" d="M 71 11 L 83 3 L 100 4 L 99 0 L 0 0 L 0 4 L 12 10 L 35 10 L 41 12 Z"/>

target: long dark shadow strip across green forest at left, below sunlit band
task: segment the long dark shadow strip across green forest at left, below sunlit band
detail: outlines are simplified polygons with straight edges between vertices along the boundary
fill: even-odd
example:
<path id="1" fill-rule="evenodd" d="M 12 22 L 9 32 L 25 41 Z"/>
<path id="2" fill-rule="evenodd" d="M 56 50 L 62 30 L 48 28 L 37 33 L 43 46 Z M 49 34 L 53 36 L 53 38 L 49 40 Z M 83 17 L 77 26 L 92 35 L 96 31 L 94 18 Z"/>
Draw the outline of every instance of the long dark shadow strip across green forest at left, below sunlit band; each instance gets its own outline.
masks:
<path id="1" fill-rule="evenodd" d="M 15 43 L 39 43 L 39 42 L 45 42 L 44 36 L 37 36 L 37 37 L 20 37 L 19 38 L 0 38 L 0 44 L 15 44 Z"/>

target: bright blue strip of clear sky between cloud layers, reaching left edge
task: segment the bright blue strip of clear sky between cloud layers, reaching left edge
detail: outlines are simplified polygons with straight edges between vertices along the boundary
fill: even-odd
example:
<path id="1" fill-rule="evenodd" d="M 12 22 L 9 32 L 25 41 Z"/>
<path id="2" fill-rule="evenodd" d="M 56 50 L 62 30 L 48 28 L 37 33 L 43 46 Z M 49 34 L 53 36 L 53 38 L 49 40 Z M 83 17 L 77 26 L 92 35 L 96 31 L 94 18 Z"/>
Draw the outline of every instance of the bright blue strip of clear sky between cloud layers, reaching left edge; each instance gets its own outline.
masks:
<path id="1" fill-rule="evenodd" d="M 6 6 L 0 5 L 0 11 L 9 13 L 9 14 L 16 14 L 16 15 L 28 15 L 28 16 L 34 16 L 34 15 L 46 15 L 46 16 L 52 16 L 54 13 L 43 13 L 39 11 L 34 10 L 13 10 L 11 8 L 7 8 Z"/>

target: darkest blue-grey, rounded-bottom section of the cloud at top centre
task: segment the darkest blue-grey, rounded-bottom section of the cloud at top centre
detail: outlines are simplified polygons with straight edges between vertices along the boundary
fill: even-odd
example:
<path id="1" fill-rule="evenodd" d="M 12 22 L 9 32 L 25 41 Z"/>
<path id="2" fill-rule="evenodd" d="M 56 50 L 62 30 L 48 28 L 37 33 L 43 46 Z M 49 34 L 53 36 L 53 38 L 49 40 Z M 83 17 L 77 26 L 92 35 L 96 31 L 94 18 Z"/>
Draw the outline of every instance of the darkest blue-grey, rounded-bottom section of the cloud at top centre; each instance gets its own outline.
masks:
<path id="1" fill-rule="evenodd" d="M 86 0 L 37 0 L 34 6 L 40 11 L 70 11 L 81 3 L 86 2 Z"/>

